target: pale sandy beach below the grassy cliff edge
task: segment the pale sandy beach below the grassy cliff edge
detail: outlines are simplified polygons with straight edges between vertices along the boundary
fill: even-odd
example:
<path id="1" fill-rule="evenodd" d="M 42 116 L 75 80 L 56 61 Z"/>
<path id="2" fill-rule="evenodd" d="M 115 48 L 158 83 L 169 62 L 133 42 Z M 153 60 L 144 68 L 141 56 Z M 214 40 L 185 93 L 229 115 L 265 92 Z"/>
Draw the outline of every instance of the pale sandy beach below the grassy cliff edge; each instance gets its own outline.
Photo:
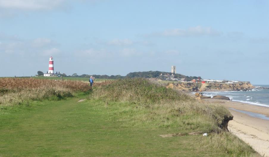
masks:
<path id="1" fill-rule="evenodd" d="M 233 110 L 254 112 L 269 117 L 269 107 L 227 100 L 207 99 L 201 101 L 217 102 L 229 109 L 234 118 L 229 121 L 228 129 L 237 137 L 248 143 L 261 156 L 269 157 L 269 120 L 260 119 Z"/>

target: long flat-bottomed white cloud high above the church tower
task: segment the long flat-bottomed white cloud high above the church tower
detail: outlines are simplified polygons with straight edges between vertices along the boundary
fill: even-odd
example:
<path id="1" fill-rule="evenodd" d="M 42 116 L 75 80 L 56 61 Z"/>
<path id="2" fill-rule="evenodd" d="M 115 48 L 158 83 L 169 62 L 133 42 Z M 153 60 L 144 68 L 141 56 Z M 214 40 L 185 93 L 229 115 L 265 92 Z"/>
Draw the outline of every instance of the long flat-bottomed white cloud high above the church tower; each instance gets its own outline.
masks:
<path id="1" fill-rule="evenodd" d="M 211 27 L 190 27 L 188 29 L 168 29 L 163 32 L 156 32 L 150 34 L 151 36 L 179 36 L 179 37 L 191 37 L 191 36 L 203 36 L 203 35 L 209 35 L 209 36 L 217 36 L 220 35 L 221 32 L 212 29 Z"/>

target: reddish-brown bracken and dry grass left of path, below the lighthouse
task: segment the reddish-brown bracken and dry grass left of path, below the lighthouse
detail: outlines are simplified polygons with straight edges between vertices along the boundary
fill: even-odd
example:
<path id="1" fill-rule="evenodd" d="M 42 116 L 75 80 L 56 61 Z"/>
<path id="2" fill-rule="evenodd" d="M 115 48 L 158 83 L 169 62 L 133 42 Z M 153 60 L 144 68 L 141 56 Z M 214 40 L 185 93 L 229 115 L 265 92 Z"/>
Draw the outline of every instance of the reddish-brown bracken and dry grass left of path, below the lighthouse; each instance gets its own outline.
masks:
<path id="1" fill-rule="evenodd" d="M 82 81 L 54 81 L 44 79 L 0 79 L 0 105 L 21 105 L 30 100 L 62 99 L 74 92 L 90 90 Z"/>

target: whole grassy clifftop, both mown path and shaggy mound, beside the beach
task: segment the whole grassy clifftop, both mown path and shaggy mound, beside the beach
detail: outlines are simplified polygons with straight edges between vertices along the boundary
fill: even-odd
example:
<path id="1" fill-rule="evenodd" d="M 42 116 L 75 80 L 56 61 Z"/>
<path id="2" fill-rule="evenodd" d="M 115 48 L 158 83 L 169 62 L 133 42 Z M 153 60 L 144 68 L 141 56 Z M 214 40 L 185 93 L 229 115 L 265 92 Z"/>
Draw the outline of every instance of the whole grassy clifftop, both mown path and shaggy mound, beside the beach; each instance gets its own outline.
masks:
<path id="1" fill-rule="evenodd" d="M 177 102 L 155 100 L 159 94 Z M 214 132 L 221 109 L 140 79 L 58 101 L 0 105 L 0 156 L 259 156 L 229 132 Z"/>

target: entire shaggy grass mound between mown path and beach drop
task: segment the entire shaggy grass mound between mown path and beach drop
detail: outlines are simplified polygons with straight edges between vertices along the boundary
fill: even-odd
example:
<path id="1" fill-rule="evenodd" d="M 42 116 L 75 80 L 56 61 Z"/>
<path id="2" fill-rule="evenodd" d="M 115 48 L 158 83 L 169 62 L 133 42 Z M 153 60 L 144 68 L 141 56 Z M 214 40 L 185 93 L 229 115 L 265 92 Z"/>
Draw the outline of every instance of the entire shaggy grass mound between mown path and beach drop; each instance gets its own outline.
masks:
<path id="1" fill-rule="evenodd" d="M 178 128 L 188 133 L 195 131 L 218 132 L 225 116 L 231 116 L 223 106 L 200 103 L 189 95 L 150 82 L 148 79 L 123 79 L 98 87 L 90 99 L 106 102 L 106 107 L 117 108 L 111 116 L 126 124 L 153 128 Z M 146 114 L 145 114 L 146 112 Z M 184 128 L 182 130 L 182 128 Z"/>

